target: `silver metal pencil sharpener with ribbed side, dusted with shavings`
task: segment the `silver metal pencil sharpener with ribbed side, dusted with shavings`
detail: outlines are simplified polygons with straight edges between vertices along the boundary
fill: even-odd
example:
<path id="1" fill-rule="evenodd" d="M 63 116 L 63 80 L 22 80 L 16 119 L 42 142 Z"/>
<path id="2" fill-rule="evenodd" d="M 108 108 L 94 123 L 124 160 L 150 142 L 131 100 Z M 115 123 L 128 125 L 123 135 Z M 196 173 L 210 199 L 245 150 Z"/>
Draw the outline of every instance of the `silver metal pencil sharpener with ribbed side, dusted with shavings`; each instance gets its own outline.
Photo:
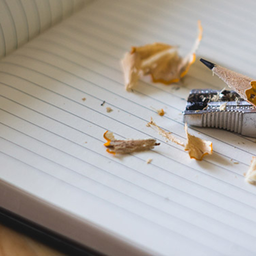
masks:
<path id="1" fill-rule="evenodd" d="M 183 122 L 256 138 L 256 108 L 234 91 L 191 90 Z"/>

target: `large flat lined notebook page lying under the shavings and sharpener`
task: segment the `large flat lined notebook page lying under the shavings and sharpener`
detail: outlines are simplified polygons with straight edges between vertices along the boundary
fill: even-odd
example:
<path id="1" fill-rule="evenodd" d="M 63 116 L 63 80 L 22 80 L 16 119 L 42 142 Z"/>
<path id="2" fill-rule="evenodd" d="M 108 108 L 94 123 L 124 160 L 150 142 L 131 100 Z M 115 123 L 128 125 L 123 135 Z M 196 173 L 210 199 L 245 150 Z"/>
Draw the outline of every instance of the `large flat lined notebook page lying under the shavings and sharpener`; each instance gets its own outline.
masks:
<path id="1" fill-rule="evenodd" d="M 2 180 L 146 255 L 255 255 L 256 187 L 243 176 L 255 139 L 190 127 L 213 143 L 214 154 L 198 162 L 146 127 L 153 117 L 185 141 L 181 113 L 189 91 L 225 85 L 196 61 L 179 84 L 145 78 L 127 93 L 120 69 L 131 46 L 162 41 L 186 53 L 200 19 L 198 57 L 253 77 L 254 7 L 252 1 L 95 1 L 2 59 Z M 162 108 L 160 117 L 155 109 Z M 103 146 L 106 130 L 161 145 L 113 156 Z"/>

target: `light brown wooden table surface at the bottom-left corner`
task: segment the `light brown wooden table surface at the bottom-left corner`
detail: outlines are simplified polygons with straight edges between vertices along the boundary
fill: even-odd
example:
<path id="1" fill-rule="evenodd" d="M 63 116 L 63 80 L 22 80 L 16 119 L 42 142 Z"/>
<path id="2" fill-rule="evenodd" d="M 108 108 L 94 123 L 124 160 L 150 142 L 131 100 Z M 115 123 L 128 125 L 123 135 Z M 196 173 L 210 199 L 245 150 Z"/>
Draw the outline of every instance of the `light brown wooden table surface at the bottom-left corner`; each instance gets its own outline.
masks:
<path id="1" fill-rule="evenodd" d="M 0 224 L 0 256 L 64 256 L 24 234 Z"/>

